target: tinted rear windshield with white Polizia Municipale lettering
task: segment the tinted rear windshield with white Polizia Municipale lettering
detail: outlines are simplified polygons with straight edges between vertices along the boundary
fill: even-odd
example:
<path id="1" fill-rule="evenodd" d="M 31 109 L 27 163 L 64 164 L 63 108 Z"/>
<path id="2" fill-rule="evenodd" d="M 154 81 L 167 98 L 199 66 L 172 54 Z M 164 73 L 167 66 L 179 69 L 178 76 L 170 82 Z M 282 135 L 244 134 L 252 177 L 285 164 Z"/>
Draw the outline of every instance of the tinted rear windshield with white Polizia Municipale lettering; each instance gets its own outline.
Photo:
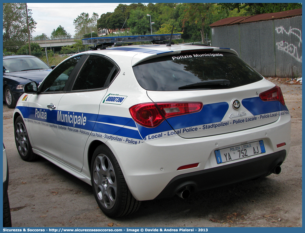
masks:
<path id="1" fill-rule="evenodd" d="M 142 88 L 150 91 L 234 88 L 263 79 L 228 52 L 190 52 L 163 56 L 133 67 Z"/>

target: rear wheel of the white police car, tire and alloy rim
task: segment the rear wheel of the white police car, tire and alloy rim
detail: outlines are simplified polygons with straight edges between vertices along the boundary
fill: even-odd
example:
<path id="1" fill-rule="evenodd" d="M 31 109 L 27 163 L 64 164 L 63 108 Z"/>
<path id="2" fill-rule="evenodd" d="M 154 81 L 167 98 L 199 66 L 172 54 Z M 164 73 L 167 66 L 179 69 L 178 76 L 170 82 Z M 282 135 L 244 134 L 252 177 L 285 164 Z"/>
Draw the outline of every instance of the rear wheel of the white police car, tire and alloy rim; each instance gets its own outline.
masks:
<path id="1" fill-rule="evenodd" d="M 106 145 L 99 145 L 93 153 L 91 184 L 100 209 L 108 217 L 123 217 L 140 207 L 141 202 L 131 194 L 117 159 Z"/>

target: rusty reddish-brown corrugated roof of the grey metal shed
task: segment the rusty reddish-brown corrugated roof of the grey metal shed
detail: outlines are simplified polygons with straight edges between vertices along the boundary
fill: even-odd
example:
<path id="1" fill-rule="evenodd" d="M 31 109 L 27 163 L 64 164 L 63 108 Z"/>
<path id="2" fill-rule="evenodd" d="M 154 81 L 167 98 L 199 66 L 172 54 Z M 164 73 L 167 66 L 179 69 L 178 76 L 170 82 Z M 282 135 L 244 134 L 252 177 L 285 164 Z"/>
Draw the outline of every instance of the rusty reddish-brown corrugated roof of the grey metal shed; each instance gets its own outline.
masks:
<path id="1" fill-rule="evenodd" d="M 257 22 L 264 20 L 274 20 L 274 19 L 299 16 L 299 15 L 302 15 L 302 8 L 288 10 L 288 11 L 281 11 L 276 13 L 259 14 L 253 16 L 229 17 L 222 20 L 218 20 L 217 22 L 210 24 L 210 27 L 219 27 L 219 26 L 233 25 L 239 23 L 250 23 L 250 22 Z"/>

